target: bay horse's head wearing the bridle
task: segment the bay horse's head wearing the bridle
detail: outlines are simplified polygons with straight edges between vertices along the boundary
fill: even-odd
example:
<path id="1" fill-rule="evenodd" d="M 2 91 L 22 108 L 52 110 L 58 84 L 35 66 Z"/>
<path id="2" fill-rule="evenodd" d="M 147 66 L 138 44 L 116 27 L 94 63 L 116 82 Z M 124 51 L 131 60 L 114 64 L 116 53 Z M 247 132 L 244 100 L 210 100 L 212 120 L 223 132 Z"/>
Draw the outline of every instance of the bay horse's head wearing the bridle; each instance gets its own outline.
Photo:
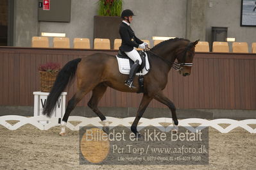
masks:
<path id="1" fill-rule="evenodd" d="M 198 42 L 199 40 L 185 43 L 183 47 L 176 50 L 176 59 L 178 60 L 179 72 L 183 76 L 190 75 L 191 73 L 191 67 L 195 54 L 194 47 L 196 47 Z"/>

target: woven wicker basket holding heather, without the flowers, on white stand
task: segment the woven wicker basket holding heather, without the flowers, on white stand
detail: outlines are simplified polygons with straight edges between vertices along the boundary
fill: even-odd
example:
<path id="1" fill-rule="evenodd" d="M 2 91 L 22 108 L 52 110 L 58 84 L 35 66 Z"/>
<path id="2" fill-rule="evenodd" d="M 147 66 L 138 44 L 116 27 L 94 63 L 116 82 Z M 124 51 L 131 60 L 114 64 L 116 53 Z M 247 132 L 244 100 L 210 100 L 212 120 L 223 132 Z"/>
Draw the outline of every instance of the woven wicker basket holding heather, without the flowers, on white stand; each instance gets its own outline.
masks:
<path id="1" fill-rule="evenodd" d="M 50 92 L 55 83 L 58 72 L 39 72 L 40 73 L 40 91 Z"/>

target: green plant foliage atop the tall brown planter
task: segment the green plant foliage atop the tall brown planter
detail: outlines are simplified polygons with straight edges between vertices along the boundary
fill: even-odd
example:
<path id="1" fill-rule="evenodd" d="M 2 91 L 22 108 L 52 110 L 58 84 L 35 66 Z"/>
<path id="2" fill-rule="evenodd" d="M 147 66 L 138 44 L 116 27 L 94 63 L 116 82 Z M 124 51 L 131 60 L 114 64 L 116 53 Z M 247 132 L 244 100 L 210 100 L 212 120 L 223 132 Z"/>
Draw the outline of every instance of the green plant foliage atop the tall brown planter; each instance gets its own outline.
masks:
<path id="1" fill-rule="evenodd" d="M 101 16 L 121 16 L 122 0 L 99 0 L 98 15 Z"/>

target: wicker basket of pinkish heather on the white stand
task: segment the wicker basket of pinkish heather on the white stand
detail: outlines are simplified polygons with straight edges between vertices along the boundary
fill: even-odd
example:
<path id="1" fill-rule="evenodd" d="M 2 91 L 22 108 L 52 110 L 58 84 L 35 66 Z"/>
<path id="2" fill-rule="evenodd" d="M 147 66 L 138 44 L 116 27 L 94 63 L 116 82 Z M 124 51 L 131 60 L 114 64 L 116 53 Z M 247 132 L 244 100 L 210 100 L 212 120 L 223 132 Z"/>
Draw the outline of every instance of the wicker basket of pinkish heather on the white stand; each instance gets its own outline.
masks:
<path id="1" fill-rule="evenodd" d="M 40 73 L 40 91 L 51 91 L 51 88 L 53 87 L 58 72 L 60 71 L 60 64 L 46 63 L 44 65 L 40 65 L 38 70 Z"/>

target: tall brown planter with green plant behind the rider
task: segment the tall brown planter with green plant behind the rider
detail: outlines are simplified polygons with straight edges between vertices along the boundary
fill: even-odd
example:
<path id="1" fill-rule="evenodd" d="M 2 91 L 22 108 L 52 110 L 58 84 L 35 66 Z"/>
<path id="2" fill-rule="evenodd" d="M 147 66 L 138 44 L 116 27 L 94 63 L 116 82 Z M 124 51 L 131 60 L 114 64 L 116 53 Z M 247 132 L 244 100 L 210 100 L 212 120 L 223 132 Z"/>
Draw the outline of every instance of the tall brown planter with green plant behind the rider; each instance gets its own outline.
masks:
<path id="1" fill-rule="evenodd" d="M 122 5 L 122 0 L 99 0 L 98 15 L 94 16 L 94 38 L 110 39 L 111 49 L 114 47 L 114 40 L 120 38 Z"/>

